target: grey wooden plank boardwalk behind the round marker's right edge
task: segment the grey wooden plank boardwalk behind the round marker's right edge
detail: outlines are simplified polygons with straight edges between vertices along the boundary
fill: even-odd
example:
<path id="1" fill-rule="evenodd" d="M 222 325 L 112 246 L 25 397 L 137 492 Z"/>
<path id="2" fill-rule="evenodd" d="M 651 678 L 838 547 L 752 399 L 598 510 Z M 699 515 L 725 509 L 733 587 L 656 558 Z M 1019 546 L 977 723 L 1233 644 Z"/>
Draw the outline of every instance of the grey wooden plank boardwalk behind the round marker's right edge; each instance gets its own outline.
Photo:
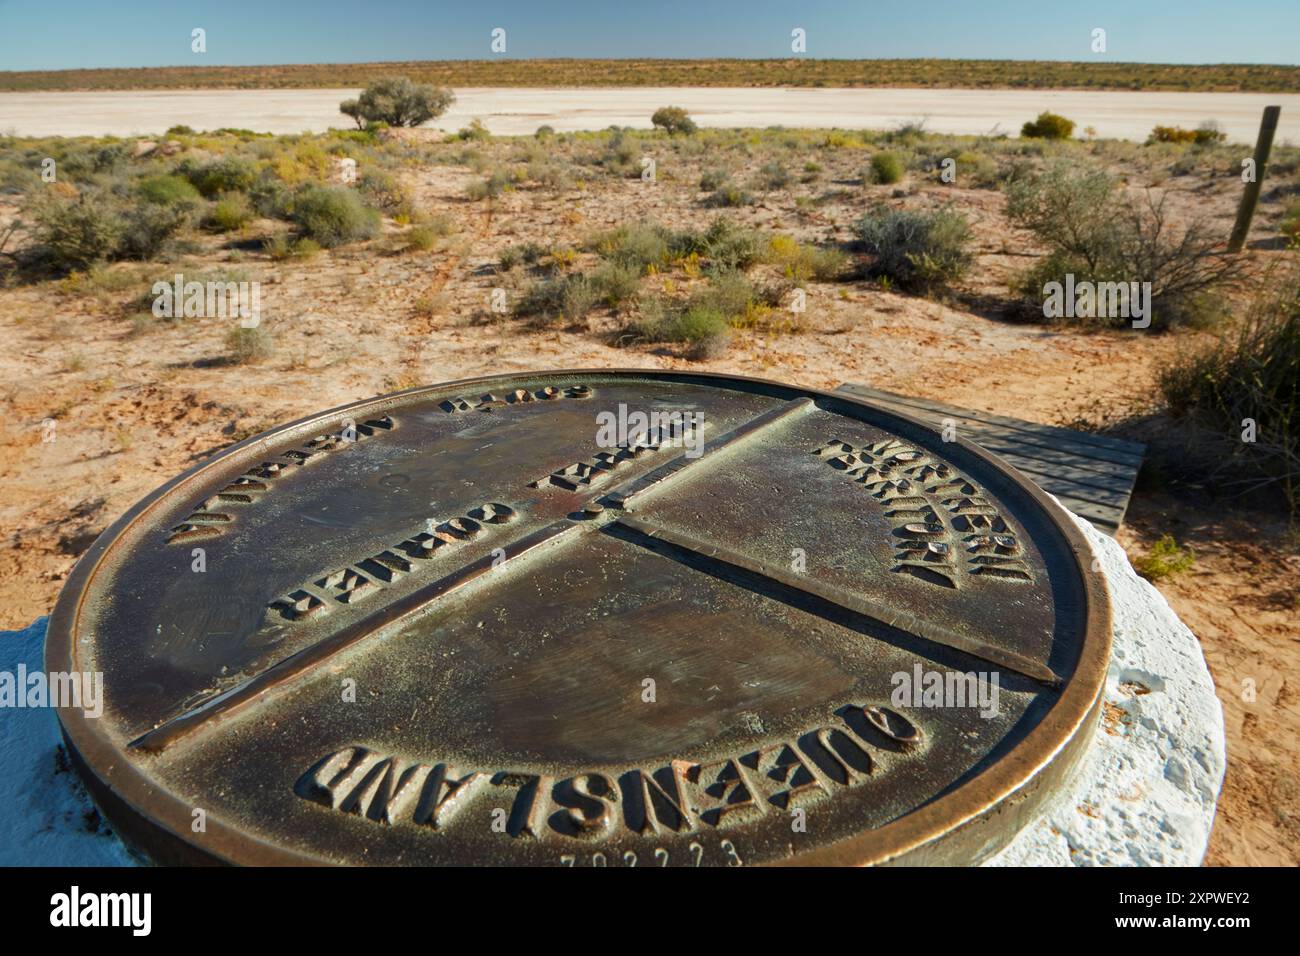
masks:
<path id="1" fill-rule="evenodd" d="M 957 408 L 852 382 L 837 390 L 933 425 L 941 427 L 945 419 L 952 419 L 963 438 L 1018 468 L 1098 531 L 1114 537 L 1124 520 L 1147 450 L 1140 442 Z"/>

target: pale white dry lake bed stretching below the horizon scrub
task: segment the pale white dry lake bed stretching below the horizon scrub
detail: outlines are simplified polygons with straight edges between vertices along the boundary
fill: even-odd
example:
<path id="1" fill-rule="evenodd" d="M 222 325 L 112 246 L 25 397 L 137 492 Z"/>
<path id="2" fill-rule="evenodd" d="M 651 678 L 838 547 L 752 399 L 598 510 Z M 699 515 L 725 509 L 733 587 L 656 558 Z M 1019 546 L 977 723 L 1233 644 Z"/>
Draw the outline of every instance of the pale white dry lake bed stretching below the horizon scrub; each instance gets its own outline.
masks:
<path id="1" fill-rule="evenodd" d="M 346 126 L 339 101 L 358 90 L 172 90 L 160 92 L 3 92 L 0 131 L 23 137 L 134 135 L 173 125 L 231 126 L 259 133 L 322 131 Z M 1282 105 L 1277 139 L 1300 142 L 1300 95 L 1234 92 L 1117 92 L 1080 90 L 800 90 L 800 88 L 504 88 L 456 90 L 436 125 L 455 131 L 482 120 L 495 134 L 607 126 L 649 127 L 659 107 L 684 107 L 702 126 L 890 129 L 924 120 L 949 134 L 1019 133 L 1044 109 L 1062 113 L 1082 134 L 1143 140 L 1156 125 L 1219 124 L 1228 139 L 1253 143 L 1260 113 Z"/>

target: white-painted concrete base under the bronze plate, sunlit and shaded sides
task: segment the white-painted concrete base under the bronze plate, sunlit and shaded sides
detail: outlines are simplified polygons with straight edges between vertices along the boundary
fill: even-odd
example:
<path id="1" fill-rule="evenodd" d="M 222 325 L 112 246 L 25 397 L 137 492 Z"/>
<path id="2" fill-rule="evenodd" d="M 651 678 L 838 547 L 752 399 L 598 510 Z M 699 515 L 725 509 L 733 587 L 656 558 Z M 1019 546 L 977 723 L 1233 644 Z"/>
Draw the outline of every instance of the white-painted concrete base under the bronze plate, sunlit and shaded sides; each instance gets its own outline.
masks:
<path id="1" fill-rule="evenodd" d="M 1223 783 L 1223 713 L 1205 658 L 1123 549 L 1076 519 L 1114 605 L 1102 726 L 1039 821 L 989 866 L 1195 866 Z M 39 670 L 46 619 L 0 633 L 0 669 Z M 56 761 L 55 711 L 0 713 L 0 865 L 135 861 L 105 827 L 72 769 Z"/>

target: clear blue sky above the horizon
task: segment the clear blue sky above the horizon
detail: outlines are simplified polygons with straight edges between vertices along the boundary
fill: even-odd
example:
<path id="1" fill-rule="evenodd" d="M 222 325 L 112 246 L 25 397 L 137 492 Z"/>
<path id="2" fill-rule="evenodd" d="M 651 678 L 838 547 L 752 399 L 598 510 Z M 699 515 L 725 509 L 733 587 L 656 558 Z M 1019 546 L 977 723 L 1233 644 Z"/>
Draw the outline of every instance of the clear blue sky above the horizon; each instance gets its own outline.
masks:
<path id="1" fill-rule="evenodd" d="M 1300 62 L 1300 0 L 0 0 L 0 70 L 512 57 Z M 208 51 L 190 51 L 207 30 Z"/>

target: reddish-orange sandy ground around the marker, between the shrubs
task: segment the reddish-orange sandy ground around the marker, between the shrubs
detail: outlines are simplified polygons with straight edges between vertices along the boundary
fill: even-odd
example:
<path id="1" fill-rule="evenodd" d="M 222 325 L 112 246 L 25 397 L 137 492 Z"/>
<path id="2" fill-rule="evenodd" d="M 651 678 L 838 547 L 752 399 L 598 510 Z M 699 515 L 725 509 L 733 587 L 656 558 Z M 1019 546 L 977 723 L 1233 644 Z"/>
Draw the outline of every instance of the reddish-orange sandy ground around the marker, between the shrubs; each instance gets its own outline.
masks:
<path id="1" fill-rule="evenodd" d="M 852 169 L 826 176 L 835 182 Z M 493 324 L 485 321 L 490 290 L 510 281 L 494 268 L 503 248 L 525 241 L 578 247 L 593 232 L 629 221 L 707 222 L 715 213 L 699 207 L 698 170 L 649 189 L 637 179 L 519 189 L 490 211 L 464 198 L 465 185 L 481 178 L 464 166 L 420 166 L 411 177 L 420 207 L 455 221 L 456 233 L 432 251 L 399 251 L 386 237 L 273 261 L 247 251 L 255 243 L 237 251 L 209 238 L 186 260 L 156 267 L 164 276 L 237 268 L 259 280 L 276 341 L 263 362 L 224 362 L 228 329 L 218 320 L 133 325 L 127 291 L 57 282 L 0 290 L 8 345 L 0 350 L 0 628 L 48 614 L 77 555 L 164 480 L 277 423 L 400 388 L 547 367 L 703 368 L 818 388 L 858 381 L 1049 424 L 1104 424 L 1149 405 L 1160 363 L 1206 341 L 1204 333 L 1017 324 L 868 282 L 812 284 L 798 330 L 737 334 L 710 362 L 689 362 L 671 346 L 614 347 L 607 315 L 586 326 Z M 1171 190 L 1175 212 L 1208 211 L 1226 232 L 1235 191 L 1222 179 Z M 889 195 L 889 187 L 871 189 Z M 930 189 L 906 202 L 931 202 Z M 944 195 L 976 232 L 978 261 L 962 291 L 1005 297 L 1008 278 L 1026 265 L 1028 238 L 1006 222 L 1000 193 L 949 187 Z M 853 194 L 845 206 L 801 212 L 792 194 L 777 193 L 728 216 L 802 241 L 842 241 L 863 202 Z M 0 200 L 0 222 L 14 212 Z M 49 419 L 55 441 L 43 441 Z M 1228 774 L 1210 864 L 1300 862 L 1300 553 L 1282 531 L 1257 512 L 1148 488 L 1135 494 L 1119 536 L 1131 557 L 1164 533 L 1197 549 L 1192 571 L 1160 587 L 1200 637 L 1225 706 Z"/>

